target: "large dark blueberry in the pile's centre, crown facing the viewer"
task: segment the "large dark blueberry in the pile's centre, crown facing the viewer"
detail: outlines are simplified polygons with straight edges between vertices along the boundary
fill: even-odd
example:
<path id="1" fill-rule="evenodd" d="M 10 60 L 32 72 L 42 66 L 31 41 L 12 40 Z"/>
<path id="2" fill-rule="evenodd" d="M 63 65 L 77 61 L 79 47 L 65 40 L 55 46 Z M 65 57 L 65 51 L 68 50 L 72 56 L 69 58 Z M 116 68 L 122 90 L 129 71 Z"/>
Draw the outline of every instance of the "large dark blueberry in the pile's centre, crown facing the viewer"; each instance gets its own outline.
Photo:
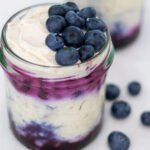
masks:
<path id="1" fill-rule="evenodd" d="M 84 33 L 78 27 L 69 26 L 63 32 L 63 38 L 67 46 L 80 47 L 84 41 Z"/>

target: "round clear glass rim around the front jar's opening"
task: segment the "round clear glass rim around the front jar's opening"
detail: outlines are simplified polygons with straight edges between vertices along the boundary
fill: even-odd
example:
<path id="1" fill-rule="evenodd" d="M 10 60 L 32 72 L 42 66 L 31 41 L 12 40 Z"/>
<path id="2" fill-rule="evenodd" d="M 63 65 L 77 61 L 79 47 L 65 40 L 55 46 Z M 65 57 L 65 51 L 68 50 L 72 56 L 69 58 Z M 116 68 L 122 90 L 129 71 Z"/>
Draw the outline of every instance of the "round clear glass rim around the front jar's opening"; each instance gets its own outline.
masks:
<path id="1" fill-rule="evenodd" d="M 14 57 L 15 59 L 17 59 L 18 61 L 21 61 L 22 63 L 25 63 L 27 65 L 32 65 L 32 66 L 36 66 L 36 67 L 42 67 L 42 68 L 66 68 L 66 67 L 70 67 L 70 66 L 52 66 L 52 65 L 49 65 L 49 66 L 46 66 L 46 65 L 40 65 L 40 64 L 36 64 L 36 63 L 33 63 L 33 62 L 30 62 L 26 59 L 23 59 L 22 57 L 20 57 L 19 55 L 17 55 L 16 53 L 13 52 L 13 50 L 10 48 L 8 42 L 7 42 L 7 38 L 6 38 L 6 33 L 7 33 L 7 25 L 9 22 L 11 22 L 15 17 L 17 17 L 19 14 L 21 14 L 22 12 L 25 12 L 25 11 L 28 11 L 28 10 L 31 10 L 32 8 L 36 8 L 36 7 L 41 7 L 41 6 L 46 6 L 46 5 L 53 5 L 53 4 L 58 4 L 58 3 L 42 3 L 42 4 L 37 4 L 37 5 L 32 5 L 32 6 L 29 6 L 29 7 L 26 7 L 24 9 L 21 9 L 20 11 L 17 11 L 14 15 L 12 15 L 5 23 L 3 29 L 2 29 L 2 35 L 1 35 L 1 42 L 2 42 L 2 46 L 5 47 L 5 50 L 9 53 L 9 55 L 11 55 L 12 57 Z M 105 45 L 101 48 L 101 50 L 94 56 L 92 57 L 91 59 L 89 59 L 88 61 L 90 60 L 93 60 L 95 59 L 96 57 L 98 57 L 99 55 L 101 55 L 102 53 L 104 53 L 104 51 L 107 49 L 107 45 L 109 44 L 109 41 L 110 41 L 110 35 L 109 35 L 109 32 L 108 30 L 106 30 L 106 41 L 105 41 Z M 78 66 L 78 65 L 83 65 L 83 64 L 86 64 L 86 62 L 80 62 L 80 63 L 77 63 L 77 64 L 74 64 L 72 65 L 71 67 L 73 66 Z"/>

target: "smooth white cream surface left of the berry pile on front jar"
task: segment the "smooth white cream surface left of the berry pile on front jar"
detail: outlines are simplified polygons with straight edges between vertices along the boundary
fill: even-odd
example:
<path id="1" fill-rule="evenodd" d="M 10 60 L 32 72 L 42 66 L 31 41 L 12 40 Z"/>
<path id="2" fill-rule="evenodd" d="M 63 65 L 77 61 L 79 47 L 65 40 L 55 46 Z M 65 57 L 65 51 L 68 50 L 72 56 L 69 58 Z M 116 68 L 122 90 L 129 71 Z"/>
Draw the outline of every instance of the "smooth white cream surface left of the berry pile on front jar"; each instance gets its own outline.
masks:
<path id="1" fill-rule="evenodd" d="M 49 6 L 32 8 L 21 19 L 13 19 L 7 25 L 7 42 L 19 57 L 35 64 L 58 66 L 55 52 L 50 50 L 45 39 Z"/>

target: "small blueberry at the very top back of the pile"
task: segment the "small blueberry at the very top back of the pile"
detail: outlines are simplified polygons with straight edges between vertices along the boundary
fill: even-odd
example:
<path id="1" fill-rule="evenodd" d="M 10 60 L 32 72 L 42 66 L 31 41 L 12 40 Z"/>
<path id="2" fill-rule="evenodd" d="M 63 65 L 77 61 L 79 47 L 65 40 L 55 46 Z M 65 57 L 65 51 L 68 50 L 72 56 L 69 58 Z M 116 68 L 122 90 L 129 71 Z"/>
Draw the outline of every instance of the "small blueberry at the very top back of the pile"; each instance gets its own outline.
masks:
<path id="1" fill-rule="evenodd" d="M 79 11 L 77 4 L 75 4 L 74 2 L 67 2 L 63 6 L 67 12 L 68 11 L 78 12 Z"/>

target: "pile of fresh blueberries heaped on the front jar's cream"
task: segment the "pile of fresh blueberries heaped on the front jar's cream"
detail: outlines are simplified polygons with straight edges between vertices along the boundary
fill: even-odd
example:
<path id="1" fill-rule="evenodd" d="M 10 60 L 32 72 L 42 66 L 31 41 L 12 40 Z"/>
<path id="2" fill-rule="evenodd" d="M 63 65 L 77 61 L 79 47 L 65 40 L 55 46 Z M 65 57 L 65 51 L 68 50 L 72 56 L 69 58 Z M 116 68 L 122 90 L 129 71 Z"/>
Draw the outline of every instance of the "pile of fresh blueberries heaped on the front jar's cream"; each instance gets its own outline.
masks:
<path id="1" fill-rule="evenodd" d="M 53 5 L 48 11 L 46 26 L 50 34 L 46 45 L 56 52 L 56 62 L 62 66 L 85 62 L 99 52 L 106 42 L 107 28 L 96 17 L 93 7 L 79 9 L 73 2 Z"/>

